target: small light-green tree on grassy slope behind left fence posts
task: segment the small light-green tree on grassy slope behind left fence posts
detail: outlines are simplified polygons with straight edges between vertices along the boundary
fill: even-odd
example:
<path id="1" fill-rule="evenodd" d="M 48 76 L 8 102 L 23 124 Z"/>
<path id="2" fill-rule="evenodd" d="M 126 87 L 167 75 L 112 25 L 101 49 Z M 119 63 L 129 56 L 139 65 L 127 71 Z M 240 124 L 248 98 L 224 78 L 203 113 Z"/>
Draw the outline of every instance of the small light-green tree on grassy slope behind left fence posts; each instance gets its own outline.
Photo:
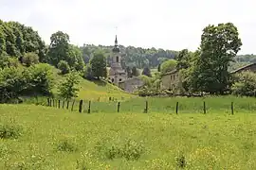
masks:
<path id="1" fill-rule="evenodd" d="M 73 97 L 77 97 L 79 89 L 76 87 L 80 82 L 80 76 L 76 72 L 72 72 L 66 75 L 64 82 L 59 88 L 60 96 L 69 100 Z"/>

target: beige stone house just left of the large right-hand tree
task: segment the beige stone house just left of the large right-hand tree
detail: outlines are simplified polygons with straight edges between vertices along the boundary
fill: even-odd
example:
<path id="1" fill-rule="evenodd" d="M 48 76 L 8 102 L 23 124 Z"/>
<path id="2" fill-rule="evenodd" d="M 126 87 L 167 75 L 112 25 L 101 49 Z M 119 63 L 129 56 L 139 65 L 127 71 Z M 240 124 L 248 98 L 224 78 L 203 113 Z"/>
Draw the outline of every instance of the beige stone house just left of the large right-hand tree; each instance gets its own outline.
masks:
<path id="1" fill-rule="evenodd" d="M 177 70 L 168 72 L 161 77 L 161 89 L 174 91 L 178 86 L 180 86 L 180 76 Z"/>

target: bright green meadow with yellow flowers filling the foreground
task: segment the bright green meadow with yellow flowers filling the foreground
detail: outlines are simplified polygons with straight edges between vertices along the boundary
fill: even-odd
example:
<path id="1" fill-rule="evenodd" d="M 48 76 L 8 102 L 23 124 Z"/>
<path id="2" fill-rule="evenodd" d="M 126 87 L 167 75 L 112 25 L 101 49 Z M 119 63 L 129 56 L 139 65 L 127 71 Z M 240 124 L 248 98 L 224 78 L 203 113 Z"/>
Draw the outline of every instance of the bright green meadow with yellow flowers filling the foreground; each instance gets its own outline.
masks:
<path id="1" fill-rule="evenodd" d="M 188 107 L 159 109 L 174 100 Z M 234 115 L 217 110 L 230 100 Z M 245 108 L 254 99 L 230 100 L 208 98 L 207 114 L 189 111 L 199 98 L 152 98 L 148 114 L 143 99 L 123 113 L 0 105 L 0 169 L 255 169 L 256 114 Z"/>

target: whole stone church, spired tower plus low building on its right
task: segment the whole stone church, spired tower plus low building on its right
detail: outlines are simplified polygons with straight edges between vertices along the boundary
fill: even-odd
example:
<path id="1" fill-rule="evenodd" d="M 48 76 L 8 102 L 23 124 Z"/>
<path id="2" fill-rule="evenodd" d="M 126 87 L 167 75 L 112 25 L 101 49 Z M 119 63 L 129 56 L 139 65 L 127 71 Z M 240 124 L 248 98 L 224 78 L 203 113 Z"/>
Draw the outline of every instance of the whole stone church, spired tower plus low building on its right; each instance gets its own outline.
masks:
<path id="1" fill-rule="evenodd" d="M 116 35 L 115 45 L 111 53 L 111 64 L 108 78 L 111 83 L 115 84 L 120 89 L 128 93 L 134 93 L 140 86 L 143 86 L 144 82 L 138 76 L 128 77 L 126 71 L 121 67 L 120 54 L 118 37 Z"/>

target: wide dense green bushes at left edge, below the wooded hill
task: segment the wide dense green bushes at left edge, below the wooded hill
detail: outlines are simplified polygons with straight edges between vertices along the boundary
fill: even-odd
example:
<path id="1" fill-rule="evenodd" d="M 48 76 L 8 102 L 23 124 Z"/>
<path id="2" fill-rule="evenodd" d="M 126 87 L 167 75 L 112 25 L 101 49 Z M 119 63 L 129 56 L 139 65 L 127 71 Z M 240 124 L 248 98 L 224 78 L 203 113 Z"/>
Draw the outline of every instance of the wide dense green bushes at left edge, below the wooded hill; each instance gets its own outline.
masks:
<path id="1" fill-rule="evenodd" d="M 52 87 L 52 72 L 48 64 L 36 64 L 28 69 L 7 67 L 0 70 L 0 103 L 27 94 L 48 95 Z"/>

